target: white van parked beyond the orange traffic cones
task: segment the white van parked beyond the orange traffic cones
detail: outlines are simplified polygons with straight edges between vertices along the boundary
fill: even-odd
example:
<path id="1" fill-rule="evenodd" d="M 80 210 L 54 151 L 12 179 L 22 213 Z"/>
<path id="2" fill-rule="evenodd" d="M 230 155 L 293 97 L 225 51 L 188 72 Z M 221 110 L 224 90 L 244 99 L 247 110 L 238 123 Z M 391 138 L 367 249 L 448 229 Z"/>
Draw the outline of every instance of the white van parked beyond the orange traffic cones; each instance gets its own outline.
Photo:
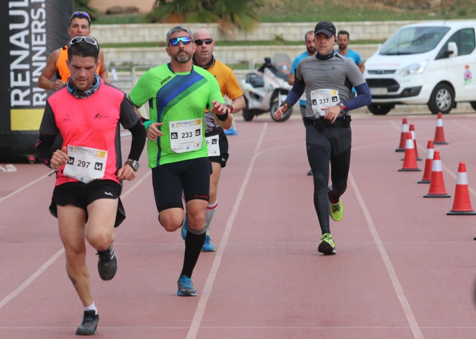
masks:
<path id="1" fill-rule="evenodd" d="M 401 27 L 365 62 L 373 114 L 396 104 L 426 104 L 449 113 L 457 102 L 476 109 L 476 21 L 430 21 Z"/>

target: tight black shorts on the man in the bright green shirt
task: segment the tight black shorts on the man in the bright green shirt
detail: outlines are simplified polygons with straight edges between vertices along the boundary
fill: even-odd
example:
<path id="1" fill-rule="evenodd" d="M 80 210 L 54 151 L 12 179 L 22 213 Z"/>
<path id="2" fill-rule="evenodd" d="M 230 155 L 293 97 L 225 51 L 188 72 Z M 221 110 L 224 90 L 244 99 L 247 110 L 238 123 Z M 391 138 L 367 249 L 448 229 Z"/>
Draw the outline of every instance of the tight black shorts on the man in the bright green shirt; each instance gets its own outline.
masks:
<path id="1" fill-rule="evenodd" d="M 152 185 L 157 211 L 184 208 L 185 201 L 209 199 L 212 165 L 208 157 L 172 162 L 152 169 Z"/>

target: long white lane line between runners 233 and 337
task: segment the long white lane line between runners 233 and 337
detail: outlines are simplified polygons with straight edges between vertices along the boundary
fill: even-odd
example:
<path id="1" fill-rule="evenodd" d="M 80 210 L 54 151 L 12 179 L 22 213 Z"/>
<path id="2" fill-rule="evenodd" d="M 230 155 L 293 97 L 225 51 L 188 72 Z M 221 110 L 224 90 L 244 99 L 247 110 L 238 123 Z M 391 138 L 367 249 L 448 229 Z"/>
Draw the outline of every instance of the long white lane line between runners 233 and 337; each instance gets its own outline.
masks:
<path id="1" fill-rule="evenodd" d="M 227 247 L 228 238 L 230 236 L 231 228 L 233 227 L 233 222 L 235 217 L 238 213 L 238 209 L 241 205 L 241 200 L 243 200 L 243 196 L 245 194 L 246 186 L 248 185 L 249 178 L 251 176 L 251 171 L 255 166 L 255 161 L 258 154 L 258 150 L 261 147 L 261 143 L 264 139 L 264 134 L 266 132 L 266 128 L 268 123 L 264 123 L 263 129 L 261 130 L 260 139 L 256 144 L 255 150 L 253 151 L 253 157 L 251 158 L 250 164 L 248 166 L 248 170 L 246 171 L 245 178 L 240 187 L 240 191 L 236 197 L 235 203 L 233 205 L 233 209 L 231 210 L 230 217 L 228 218 L 227 225 L 225 227 L 225 232 L 223 233 L 223 237 L 221 238 L 220 247 L 218 247 L 218 251 L 215 254 L 215 259 L 213 260 L 212 268 L 210 269 L 210 273 L 208 274 L 207 281 L 205 282 L 205 286 L 203 287 L 203 292 L 200 295 L 200 300 L 195 309 L 195 313 L 193 315 L 192 323 L 190 324 L 190 328 L 187 333 L 186 339 L 195 339 L 197 338 L 197 333 L 200 328 L 200 324 L 203 318 L 203 313 L 205 312 L 205 308 L 207 307 L 208 298 L 212 292 L 213 283 L 215 282 L 216 274 L 218 273 L 218 268 L 220 267 L 221 259 L 223 257 L 223 253 L 225 252 L 225 248 Z"/>

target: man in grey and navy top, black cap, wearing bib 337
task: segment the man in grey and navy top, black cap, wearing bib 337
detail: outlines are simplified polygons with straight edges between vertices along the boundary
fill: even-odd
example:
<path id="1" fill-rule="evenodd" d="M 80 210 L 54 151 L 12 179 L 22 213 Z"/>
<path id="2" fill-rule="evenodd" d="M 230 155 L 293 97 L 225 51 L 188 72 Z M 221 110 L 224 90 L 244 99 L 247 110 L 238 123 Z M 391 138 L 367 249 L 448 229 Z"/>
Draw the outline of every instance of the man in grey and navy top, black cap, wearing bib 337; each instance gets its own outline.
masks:
<path id="1" fill-rule="evenodd" d="M 347 188 L 351 159 L 352 132 L 349 111 L 369 105 L 369 86 L 355 63 L 334 53 L 336 28 L 332 22 L 318 22 L 314 29 L 317 55 L 299 62 L 294 86 L 283 105 L 276 110 L 279 118 L 306 92 L 307 159 L 314 178 L 314 206 L 322 237 L 319 252 L 335 254 L 330 234 L 329 214 L 335 221 L 344 215 L 340 196 Z M 353 99 L 352 87 L 357 91 Z M 329 183 L 329 162 L 331 180 Z"/>

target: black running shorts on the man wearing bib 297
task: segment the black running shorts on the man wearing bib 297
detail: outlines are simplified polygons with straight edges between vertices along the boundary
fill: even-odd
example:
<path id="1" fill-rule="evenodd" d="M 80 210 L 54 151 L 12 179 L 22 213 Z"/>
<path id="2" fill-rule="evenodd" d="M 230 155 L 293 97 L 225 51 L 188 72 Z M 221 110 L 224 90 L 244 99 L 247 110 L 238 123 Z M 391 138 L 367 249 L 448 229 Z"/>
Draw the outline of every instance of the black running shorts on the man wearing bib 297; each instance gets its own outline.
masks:
<path id="1" fill-rule="evenodd" d="M 53 216 L 58 217 L 57 205 L 73 205 L 87 212 L 87 206 L 94 200 L 118 199 L 116 221 L 114 222 L 114 227 L 118 227 L 125 219 L 125 211 L 119 198 L 121 189 L 121 185 L 112 180 L 94 180 L 88 184 L 79 181 L 64 183 L 55 186 L 49 211 Z"/>

